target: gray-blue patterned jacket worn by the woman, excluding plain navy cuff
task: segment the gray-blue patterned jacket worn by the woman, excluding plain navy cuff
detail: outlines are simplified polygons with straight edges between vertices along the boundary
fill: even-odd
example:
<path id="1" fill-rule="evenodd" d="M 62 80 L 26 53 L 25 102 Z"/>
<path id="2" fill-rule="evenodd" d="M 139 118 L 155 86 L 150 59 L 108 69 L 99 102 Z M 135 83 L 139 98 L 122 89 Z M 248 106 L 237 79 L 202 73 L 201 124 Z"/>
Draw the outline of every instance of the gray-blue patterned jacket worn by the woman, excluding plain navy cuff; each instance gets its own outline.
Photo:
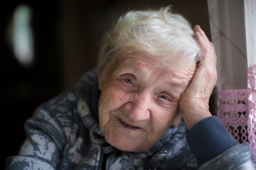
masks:
<path id="1" fill-rule="evenodd" d="M 102 169 L 104 136 L 90 111 L 97 79 L 88 72 L 75 88 L 44 103 L 26 121 L 27 140 L 6 169 Z M 148 152 L 121 152 L 110 169 L 254 169 L 248 145 L 235 145 L 198 166 L 186 142 L 185 123 L 171 127 Z"/>

